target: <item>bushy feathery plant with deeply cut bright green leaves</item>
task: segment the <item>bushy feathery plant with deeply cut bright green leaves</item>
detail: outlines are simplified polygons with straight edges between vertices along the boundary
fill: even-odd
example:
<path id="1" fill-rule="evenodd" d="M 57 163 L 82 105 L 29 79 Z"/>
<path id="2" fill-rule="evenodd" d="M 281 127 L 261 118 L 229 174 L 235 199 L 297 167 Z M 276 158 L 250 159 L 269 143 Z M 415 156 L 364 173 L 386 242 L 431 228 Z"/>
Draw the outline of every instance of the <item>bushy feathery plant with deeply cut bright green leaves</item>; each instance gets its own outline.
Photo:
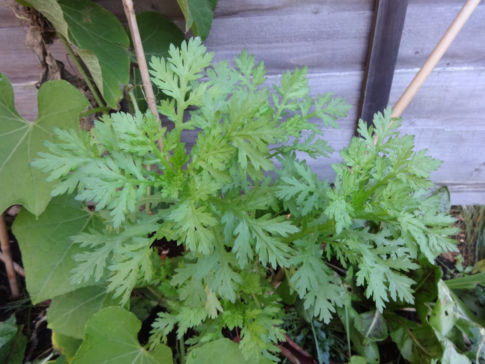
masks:
<path id="1" fill-rule="evenodd" d="M 378 312 L 388 302 L 412 304 L 418 259 L 434 264 L 456 251 L 448 237 L 455 229 L 438 212 L 439 197 L 426 194 L 440 162 L 413 151 L 401 119 L 388 108 L 375 127 L 359 121 L 362 137 L 340 151 L 331 185 L 299 156 L 333 151 L 313 121 L 337 128 L 349 105 L 332 94 L 309 97 L 306 68 L 286 72 L 270 91 L 264 64 L 247 51 L 236 67 L 212 63 L 198 38 L 169 54 L 153 57 L 150 72 L 173 128 L 149 111 L 102 116 L 90 132 L 55 129 L 58 141 L 32 163 L 59 181 L 53 196 L 92 201 L 105 219 L 104 231 L 71 238 L 84 249 L 73 256 L 71 283 L 106 280 L 120 305 L 134 288 L 155 286 L 166 311 L 153 322 L 151 348 L 173 330 L 183 339 L 193 329 L 192 348 L 235 330 L 252 363 L 277 361 L 274 344 L 285 340 L 271 284 L 278 269 L 324 322 L 347 297 L 336 264 L 355 272 Z M 190 151 L 186 130 L 199 130 Z M 152 248 L 162 238 L 186 250 L 172 265 Z"/>

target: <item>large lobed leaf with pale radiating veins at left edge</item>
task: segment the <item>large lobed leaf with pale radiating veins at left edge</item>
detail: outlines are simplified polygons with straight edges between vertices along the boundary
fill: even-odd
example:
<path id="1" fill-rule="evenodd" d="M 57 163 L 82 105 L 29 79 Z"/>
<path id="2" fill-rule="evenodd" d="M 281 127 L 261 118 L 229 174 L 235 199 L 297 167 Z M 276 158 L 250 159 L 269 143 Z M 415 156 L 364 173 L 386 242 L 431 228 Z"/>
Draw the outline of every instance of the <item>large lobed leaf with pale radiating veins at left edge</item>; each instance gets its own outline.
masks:
<path id="1" fill-rule="evenodd" d="M 44 83 L 37 95 L 39 114 L 34 122 L 15 109 L 12 84 L 0 73 L 0 210 L 21 203 L 38 216 L 51 197 L 53 183 L 30 165 L 37 152 L 47 151 L 43 141 L 53 141 L 52 127 L 79 128 L 79 113 L 88 100 L 65 81 Z"/>

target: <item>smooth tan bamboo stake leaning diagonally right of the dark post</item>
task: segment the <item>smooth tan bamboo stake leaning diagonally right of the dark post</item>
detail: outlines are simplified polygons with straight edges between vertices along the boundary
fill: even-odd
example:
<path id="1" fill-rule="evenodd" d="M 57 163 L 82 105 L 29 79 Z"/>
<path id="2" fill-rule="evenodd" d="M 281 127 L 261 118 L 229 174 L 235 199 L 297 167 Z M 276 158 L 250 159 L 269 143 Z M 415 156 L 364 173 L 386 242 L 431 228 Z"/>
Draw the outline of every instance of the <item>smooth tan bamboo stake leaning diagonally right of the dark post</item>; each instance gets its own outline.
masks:
<path id="1" fill-rule="evenodd" d="M 445 54 L 446 50 L 450 47 L 453 40 L 456 38 L 460 30 L 463 28 L 473 11 L 476 9 L 481 0 L 467 0 L 463 7 L 461 8 L 458 15 L 454 18 L 450 27 L 446 30 L 444 35 L 439 40 L 435 49 L 431 52 L 429 57 L 426 59 L 424 64 L 421 66 L 420 70 L 414 76 L 413 81 L 407 86 L 403 95 L 399 98 L 393 107 L 393 112 L 391 117 L 399 117 L 403 113 L 404 109 L 409 105 L 409 102 L 416 95 L 426 78 L 430 75 L 433 69 L 438 64 L 439 60 Z M 391 120 L 389 126 L 392 125 L 394 120 Z M 374 145 L 377 144 L 377 135 L 374 137 Z"/>

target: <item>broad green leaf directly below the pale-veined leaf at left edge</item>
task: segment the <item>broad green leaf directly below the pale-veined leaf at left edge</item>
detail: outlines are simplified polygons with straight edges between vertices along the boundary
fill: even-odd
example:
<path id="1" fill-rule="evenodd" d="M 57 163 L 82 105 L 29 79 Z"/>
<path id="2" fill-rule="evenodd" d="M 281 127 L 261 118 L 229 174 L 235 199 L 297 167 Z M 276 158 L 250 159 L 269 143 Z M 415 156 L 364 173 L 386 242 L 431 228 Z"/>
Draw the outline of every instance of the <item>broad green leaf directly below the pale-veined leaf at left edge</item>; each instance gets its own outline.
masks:
<path id="1" fill-rule="evenodd" d="M 79 285 L 70 284 L 69 271 L 76 267 L 72 256 L 84 248 L 69 237 L 103 226 L 84 204 L 66 195 L 54 197 L 38 219 L 25 209 L 20 211 L 12 230 L 23 261 L 29 262 L 25 265 L 25 277 L 33 304 L 95 284 L 93 278 Z"/>

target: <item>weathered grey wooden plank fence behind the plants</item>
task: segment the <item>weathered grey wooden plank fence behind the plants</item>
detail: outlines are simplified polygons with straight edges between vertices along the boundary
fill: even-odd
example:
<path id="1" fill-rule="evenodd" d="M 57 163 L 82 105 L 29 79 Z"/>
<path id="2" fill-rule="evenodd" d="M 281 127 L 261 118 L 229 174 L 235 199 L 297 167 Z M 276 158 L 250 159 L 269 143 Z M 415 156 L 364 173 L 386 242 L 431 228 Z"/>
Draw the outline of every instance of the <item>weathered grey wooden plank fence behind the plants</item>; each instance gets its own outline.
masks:
<path id="1" fill-rule="evenodd" d="M 34 120 L 35 83 L 41 70 L 25 46 L 27 32 L 0 0 L 0 69 L 14 84 L 16 107 Z M 2 3 L 3 2 L 3 3 Z M 124 21 L 121 0 L 99 0 Z M 461 9 L 464 0 L 409 0 L 389 103 L 402 94 Z M 158 11 L 183 27 L 175 0 L 138 0 L 137 11 Z M 355 134 L 368 57 L 373 0 L 219 0 L 205 41 L 216 59 L 231 60 L 243 48 L 264 60 L 276 80 L 287 69 L 309 66 L 312 94 L 332 91 L 354 108 L 339 130 L 324 137 L 336 150 Z M 66 62 L 62 44 L 50 48 Z M 387 56 L 386 54 L 382 55 Z M 454 204 L 485 203 L 485 2 L 465 27 L 403 113 L 402 132 L 416 135 L 418 149 L 443 160 L 432 179 L 448 185 Z M 195 134 L 188 134 L 193 143 Z M 330 159 L 310 160 L 321 177 L 333 178 Z"/>

